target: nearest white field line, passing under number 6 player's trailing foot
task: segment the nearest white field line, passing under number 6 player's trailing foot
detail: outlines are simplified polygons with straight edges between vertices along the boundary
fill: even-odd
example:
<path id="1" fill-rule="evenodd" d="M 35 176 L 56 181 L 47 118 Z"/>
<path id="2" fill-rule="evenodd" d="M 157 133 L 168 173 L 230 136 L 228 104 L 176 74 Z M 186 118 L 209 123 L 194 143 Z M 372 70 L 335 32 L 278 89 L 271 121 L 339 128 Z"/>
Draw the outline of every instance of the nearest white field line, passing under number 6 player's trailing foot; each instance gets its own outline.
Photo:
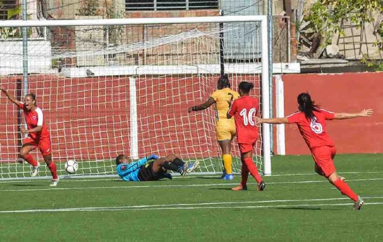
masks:
<path id="1" fill-rule="evenodd" d="M 0 213 L 26 213 L 26 212 L 68 212 L 68 211 L 121 211 L 121 210 L 180 210 L 180 209 L 251 209 L 251 208 L 277 208 L 277 207 L 319 207 L 319 206 L 344 206 L 353 203 L 335 204 L 288 204 L 288 205 L 258 205 L 258 206 L 213 206 L 213 207 L 102 207 L 102 208 L 58 208 L 58 209 L 29 209 L 29 210 L 9 210 Z M 365 205 L 377 205 L 383 202 L 365 203 Z"/>

